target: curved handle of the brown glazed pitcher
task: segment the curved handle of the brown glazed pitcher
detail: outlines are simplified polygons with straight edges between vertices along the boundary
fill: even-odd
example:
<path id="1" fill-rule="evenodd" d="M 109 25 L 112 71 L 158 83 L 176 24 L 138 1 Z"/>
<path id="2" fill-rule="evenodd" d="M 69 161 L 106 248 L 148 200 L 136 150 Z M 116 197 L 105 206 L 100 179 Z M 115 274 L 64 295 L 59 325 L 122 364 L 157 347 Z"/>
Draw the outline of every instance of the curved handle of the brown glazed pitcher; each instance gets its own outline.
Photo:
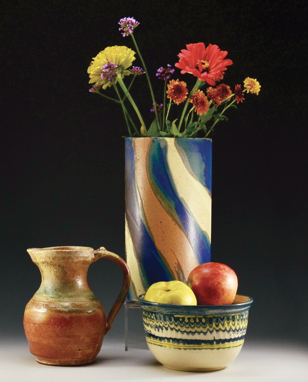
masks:
<path id="1" fill-rule="evenodd" d="M 101 246 L 99 249 L 94 251 L 94 255 L 98 255 L 97 260 L 101 258 L 106 258 L 106 259 L 114 261 L 121 267 L 123 271 L 123 284 L 122 284 L 121 291 L 106 319 L 106 329 L 105 329 L 105 334 L 106 334 L 110 330 L 111 325 L 116 315 L 118 314 L 126 298 L 126 295 L 128 294 L 128 289 L 130 285 L 130 272 L 129 272 L 128 265 L 120 256 L 116 255 L 115 253 L 107 251 L 103 246 Z"/>

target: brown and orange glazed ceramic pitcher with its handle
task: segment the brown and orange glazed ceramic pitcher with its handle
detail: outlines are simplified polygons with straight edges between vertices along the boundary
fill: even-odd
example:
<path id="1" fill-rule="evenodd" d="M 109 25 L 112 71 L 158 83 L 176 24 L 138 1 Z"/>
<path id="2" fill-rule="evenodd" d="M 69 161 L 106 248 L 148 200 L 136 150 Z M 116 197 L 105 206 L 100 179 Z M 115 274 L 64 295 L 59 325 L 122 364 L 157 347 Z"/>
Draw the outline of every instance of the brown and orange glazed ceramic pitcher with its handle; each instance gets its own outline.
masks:
<path id="1" fill-rule="evenodd" d="M 27 303 L 24 316 L 30 352 L 45 365 L 93 362 L 128 293 L 130 273 L 126 262 L 103 247 L 56 246 L 27 251 L 42 274 L 41 286 Z M 107 319 L 87 282 L 90 264 L 101 258 L 117 263 L 124 277 Z"/>

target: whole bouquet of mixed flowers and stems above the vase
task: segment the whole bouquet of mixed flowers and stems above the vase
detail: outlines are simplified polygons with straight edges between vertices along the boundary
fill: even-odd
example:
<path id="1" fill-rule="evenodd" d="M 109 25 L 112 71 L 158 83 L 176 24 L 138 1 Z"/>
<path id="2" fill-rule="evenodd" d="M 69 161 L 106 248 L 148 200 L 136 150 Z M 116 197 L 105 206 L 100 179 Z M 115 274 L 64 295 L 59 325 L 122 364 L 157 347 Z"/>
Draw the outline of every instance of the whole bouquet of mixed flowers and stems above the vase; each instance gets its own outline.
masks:
<path id="1" fill-rule="evenodd" d="M 164 96 L 163 103 L 158 104 L 155 102 L 148 70 L 133 35 L 133 31 L 139 23 L 133 18 L 126 17 L 119 21 L 119 25 L 119 30 L 122 31 L 123 36 L 131 36 L 143 69 L 132 66 L 136 52 L 126 46 L 113 46 L 105 48 L 93 58 L 88 73 L 90 76 L 89 83 L 94 83 L 90 92 L 100 94 L 121 105 L 128 127 L 128 136 L 208 137 L 219 121 L 228 119 L 225 111 L 230 107 L 236 108 L 235 102 L 237 104 L 243 102 L 246 91 L 253 94 L 259 93 L 259 82 L 249 77 L 244 81 L 244 89 L 240 84 L 237 84 L 233 92 L 230 86 L 225 83 L 217 85 L 216 83 L 224 78 L 225 70 L 227 70 L 227 66 L 232 64 L 232 61 L 225 58 L 228 52 L 221 51 L 217 45 L 209 44 L 205 47 L 204 43 L 199 42 L 186 45 L 187 50 L 181 50 L 178 55 L 180 57 L 179 62 L 175 64 L 177 68 L 181 69 L 181 74 L 189 73 L 197 77 L 195 86 L 189 91 L 186 82 L 179 79 L 170 80 L 175 72 L 170 64 L 165 68 L 161 67 L 157 70 L 156 76 L 159 80 L 164 81 Z M 152 96 L 153 108 L 151 112 L 155 114 L 149 127 L 144 123 L 141 113 L 129 93 L 135 77 L 144 74 L 147 77 Z M 130 75 L 133 77 L 127 86 L 123 80 Z M 209 86 L 203 90 L 205 84 Z M 120 89 L 118 85 L 120 85 Z M 114 87 L 117 99 L 103 94 L 102 90 L 108 86 Z M 167 102 L 167 98 L 169 102 Z M 141 126 L 136 124 L 129 115 L 126 102 L 131 103 Z M 179 107 L 183 103 L 184 107 L 181 108 L 181 113 L 177 113 L 178 118 L 173 121 L 168 119 L 171 114 L 171 106 L 175 104 Z"/>

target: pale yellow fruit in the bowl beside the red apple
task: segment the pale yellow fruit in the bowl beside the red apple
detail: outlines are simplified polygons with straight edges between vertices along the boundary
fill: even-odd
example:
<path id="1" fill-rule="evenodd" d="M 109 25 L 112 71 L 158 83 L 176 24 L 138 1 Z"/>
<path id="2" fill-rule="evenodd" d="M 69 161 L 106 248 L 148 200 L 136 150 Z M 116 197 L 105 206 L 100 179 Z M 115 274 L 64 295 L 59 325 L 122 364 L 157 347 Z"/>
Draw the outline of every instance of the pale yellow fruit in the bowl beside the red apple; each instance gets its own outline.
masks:
<path id="1" fill-rule="evenodd" d="M 194 292 L 181 281 L 161 281 L 150 286 L 145 300 L 162 304 L 197 305 Z"/>

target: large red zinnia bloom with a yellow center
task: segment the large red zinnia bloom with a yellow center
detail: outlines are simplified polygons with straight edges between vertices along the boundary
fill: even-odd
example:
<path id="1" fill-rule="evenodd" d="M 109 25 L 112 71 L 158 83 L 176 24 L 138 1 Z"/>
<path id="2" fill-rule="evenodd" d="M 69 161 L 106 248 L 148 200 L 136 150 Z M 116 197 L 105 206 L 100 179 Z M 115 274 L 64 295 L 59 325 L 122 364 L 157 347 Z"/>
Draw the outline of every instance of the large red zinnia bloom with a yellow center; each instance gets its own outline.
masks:
<path id="1" fill-rule="evenodd" d="M 221 51 L 217 45 L 209 44 L 205 49 L 204 43 L 199 42 L 186 47 L 188 50 L 182 49 L 180 61 L 175 66 L 182 69 L 181 74 L 193 74 L 210 85 L 215 85 L 215 79 L 220 79 L 223 71 L 227 70 L 226 66 L 233 63 L 230 59 L 224 59 L 228 52 Z"/>

